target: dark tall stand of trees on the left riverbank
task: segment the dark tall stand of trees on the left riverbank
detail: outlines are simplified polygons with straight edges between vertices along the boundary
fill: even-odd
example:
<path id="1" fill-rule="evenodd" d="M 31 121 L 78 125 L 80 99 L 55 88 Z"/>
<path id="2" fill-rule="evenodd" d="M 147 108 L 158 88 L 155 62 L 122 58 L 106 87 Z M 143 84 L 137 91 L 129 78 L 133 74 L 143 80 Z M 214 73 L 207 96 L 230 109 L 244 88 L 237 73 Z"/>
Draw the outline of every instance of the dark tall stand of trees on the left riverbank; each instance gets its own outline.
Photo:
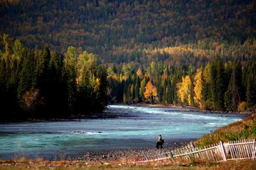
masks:
<path id="1" fill-rule="evenodd" d="M 107 67 L 95 56 L 68 47 L 64 55 L 27 49 L 3 35 L 0 55 L 1 119 L 58 117 L 102 111 L 108 104 Z"/>

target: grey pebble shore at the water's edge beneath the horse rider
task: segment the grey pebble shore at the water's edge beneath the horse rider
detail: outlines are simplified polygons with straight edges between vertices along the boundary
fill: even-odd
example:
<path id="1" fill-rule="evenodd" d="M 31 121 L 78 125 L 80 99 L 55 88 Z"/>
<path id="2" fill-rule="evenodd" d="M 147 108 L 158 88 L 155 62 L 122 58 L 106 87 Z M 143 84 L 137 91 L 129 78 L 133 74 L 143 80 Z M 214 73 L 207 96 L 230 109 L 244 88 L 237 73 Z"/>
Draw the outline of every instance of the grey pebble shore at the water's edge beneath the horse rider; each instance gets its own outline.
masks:
<path id="1" fill-rule="evenodd" d="M 100 152 L 87 154 L 82 157 L 77 157 L 74 160 L 82 161 L 118 161 L 120 158 L 123 159 L 142 159 L 144 155 L 155 155 L 166 152 L 171 152 L 179 147 L 186 145 L 191 140 L 176 140 L 176 141 L 165 141 L 163 149 L 149 148 L 149 149 L 133 149 L 133 150 L 116 150 L 109 152 Z"/>

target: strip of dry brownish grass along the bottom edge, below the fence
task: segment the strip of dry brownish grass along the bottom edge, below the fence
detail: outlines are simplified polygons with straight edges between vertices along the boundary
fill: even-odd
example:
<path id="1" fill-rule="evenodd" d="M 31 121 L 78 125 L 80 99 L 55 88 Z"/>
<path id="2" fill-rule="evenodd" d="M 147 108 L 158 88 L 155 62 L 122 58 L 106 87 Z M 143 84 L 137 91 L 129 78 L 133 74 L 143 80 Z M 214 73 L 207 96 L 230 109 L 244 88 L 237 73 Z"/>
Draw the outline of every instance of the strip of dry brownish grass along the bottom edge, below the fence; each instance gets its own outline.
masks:
<path id="1" fill-rule="evenodd" d="M 19 160 L 0 160 L 0 169 L 213 169 L 213 170 L 230 170 L 230 169 L 256 169 L 256 162 L 250 159 L 228 161 L 222 163 L 203 163 L 203 162 L 190 162 L 190 163 L 172 163 L 167 161 L 151 162 L 146 164 L 135 164 L 129 160 L 120 161 L 44 161 L 43 159 L 28 160 L 21 158 Z"/>

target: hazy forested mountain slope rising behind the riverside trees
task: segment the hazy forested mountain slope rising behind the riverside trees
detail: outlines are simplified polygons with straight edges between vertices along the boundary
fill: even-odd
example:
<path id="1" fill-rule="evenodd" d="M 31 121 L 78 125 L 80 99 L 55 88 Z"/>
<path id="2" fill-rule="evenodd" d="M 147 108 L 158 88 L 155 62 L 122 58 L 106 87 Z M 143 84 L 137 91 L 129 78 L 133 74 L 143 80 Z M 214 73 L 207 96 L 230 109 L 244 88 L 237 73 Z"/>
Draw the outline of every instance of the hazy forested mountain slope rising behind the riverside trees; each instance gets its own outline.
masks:
<path id="1" fill-rule="evenodd" d="M 255 59 L 253 0 L 1 0 L 0 10 L 1 34 L 30 48 L 48 43 L 61 53 L 72 45 L 96 54 L 98 63 L 200 67 L 216 53 L 223 60 Z"/>

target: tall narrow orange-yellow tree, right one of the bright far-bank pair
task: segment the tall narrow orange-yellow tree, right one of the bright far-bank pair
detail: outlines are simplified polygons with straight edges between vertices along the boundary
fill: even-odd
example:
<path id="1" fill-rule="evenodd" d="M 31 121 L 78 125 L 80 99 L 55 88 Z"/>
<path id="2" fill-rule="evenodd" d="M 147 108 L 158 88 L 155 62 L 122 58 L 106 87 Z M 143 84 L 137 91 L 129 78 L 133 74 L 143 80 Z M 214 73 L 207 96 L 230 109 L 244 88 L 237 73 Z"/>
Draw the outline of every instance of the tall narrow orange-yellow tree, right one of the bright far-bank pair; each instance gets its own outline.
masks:
<path id="1" fill-rule="evenodd" d="M 203 89 L 203 81 L 202 81 L 202 71 L 197 69 L 196 70 L 196 75 L 194 77 L 194 101 L 197 106 L 202 109 L 202 89 Z"/>

